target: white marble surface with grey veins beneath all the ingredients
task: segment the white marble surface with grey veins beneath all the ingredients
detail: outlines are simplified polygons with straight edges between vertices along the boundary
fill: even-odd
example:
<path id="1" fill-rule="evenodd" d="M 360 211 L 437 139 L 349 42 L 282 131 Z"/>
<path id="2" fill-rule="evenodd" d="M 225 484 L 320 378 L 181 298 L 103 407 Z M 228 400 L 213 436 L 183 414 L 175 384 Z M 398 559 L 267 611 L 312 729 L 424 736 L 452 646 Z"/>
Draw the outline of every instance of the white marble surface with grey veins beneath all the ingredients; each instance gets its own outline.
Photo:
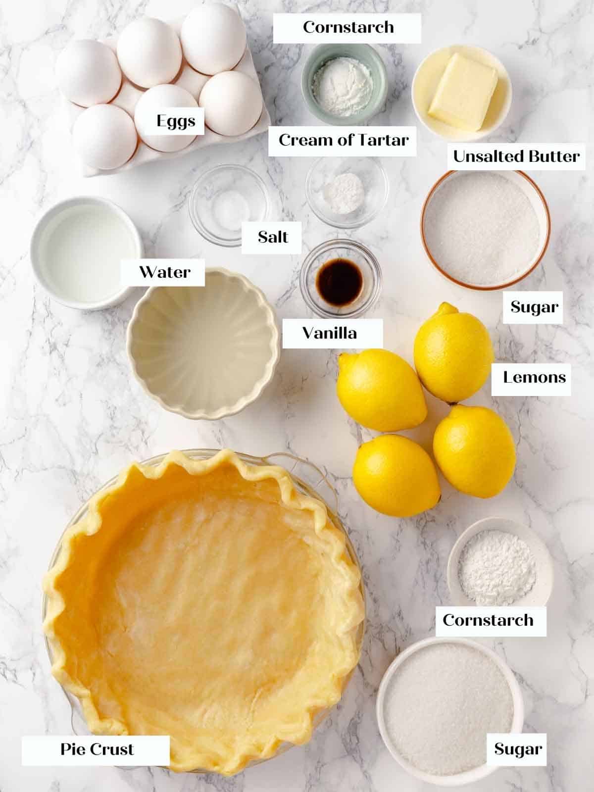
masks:
<path id="1" fill-rule="evenodd" d="M 418 233 L 422 200 L 446 169 L 445 144 L 419 130 L 418 157 L 385 160 L 390 202 L 353 234 L 378 255 L 386 347 L 410 359 L 417 326 L 449 300 L 489 326 L 499 360 L 570 362 L 572 398 L 499 398 L 488 387 L 472 403 L 495 406 L 516 438 L 512 483 L 492 501 L 444 486 L 444 498 L 413 520 L 371 512 L 352 488 L 356 446 L 367 432 L 348 421 L 334 394 L 333 352 L 284 352 L 260 402 L 216 423 L 185 421 L 150 401 L 131 379 L 124 333 L 135 300 L 103 313 L 61 307 L 33 282 L 28 242 L 36 215 L 60 198 L 88 192 L 121 204 L 150 255 L 206 257 L 250 276 L 280 317 L 303 316 L 300 257 L 242 257 L 205 243 L 188 219 L 188 192 L 207 164 L 238 162 L 261 173 L 276 217 L 303 221 L 305 247 L 333 236 L 307 210 L 301 159 L 268 159 L 261 136 L 189 154 L 176 162 L 82 181 L 64 134 L 53 83 L 55 56 L 70 36 L 108 36 L 138 13 L 184 13 L 191 0 L 2 3 L 2 426 L 0 427 L 0 790 L 190 792 L 233 790 L 428 790 L 390 759 L 375 724 L 375 691 L 398 649 L 432 634 L 434 606 L 447 603 L 447 554 L 468 524 L 501 514 L 539 531 L 554 555 L 556 584 L 549 637 L 497 642 L 524 691 L 526 729 L 546 732 L 549 766 L 501 770 L 482 792 L 578 792 L 591 786 L 594 697 L 594 539 L 592 539 L 592 216 L 587 173 L 535 173 L 550 203 L 553 235 L 546 260 L 526 289 L 562 289 L 564 326 L 501 324 L 501 294 L 478 295 L 440 280 Z M 265 8 L 263 8 L 265 6 Z M 320 10 L 384 10 L 386 2 L 329 0 Z M 240 0 L 268 108 L 276 124 L 312 124 L 299 93 L 307 48 L 272 44 L 273 10 L 307 10 L 300 0 Z M 480 9 L 480 10 L 479 10 Z M 514 101 L 497 139 L 581 142 L 592 119 L 591 2 L 571 0 L 427 0 L 390 2 L 421 10 L 423 44 L 381 48 L 390 94 L 380 124 L 413 124 L 410 82 L 421 58 L 454 42 L 481 44 L 508 67 Z M 425 444 L 444 407 L 430 400 L 417 432 Z M 51 678 L 40 633 L 40 578 L 71 514 L 131 459 L 172 447 L 230 446 L 254 454 L 291 449 L 326 466 L 341 514 L 364 567 L 369 626 L 363 657 L 333 717 L 305 748 L 235 779 L 175 776 L 158 769 L 27 769 L 22 734 L 68 733 L 69 709 Z"/>

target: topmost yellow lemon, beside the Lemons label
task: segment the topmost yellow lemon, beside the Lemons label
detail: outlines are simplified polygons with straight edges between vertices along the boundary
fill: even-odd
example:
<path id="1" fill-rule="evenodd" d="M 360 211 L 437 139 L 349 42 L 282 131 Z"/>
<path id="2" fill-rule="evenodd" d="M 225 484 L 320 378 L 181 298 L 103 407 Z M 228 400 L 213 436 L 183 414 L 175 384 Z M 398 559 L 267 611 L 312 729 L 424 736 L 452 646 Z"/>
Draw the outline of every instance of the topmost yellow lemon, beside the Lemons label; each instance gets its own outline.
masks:
<path id="1" fill-rule="evenodd" d="M 485 384 L 495 360 L 489 333 L 472 314 L 450 303 L 421 325 L 414 340 L 414 365 L 430 394 L 448 404 L 463 402 Z"/>

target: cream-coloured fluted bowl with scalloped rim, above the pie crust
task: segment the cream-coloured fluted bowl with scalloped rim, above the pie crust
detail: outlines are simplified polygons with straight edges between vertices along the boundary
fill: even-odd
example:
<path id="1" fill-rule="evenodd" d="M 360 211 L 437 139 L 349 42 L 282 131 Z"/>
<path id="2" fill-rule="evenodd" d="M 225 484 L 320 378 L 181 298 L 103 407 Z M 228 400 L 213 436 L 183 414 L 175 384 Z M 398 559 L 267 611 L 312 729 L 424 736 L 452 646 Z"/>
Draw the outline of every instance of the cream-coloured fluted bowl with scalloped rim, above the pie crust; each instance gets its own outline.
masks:
<path id="1" fill-rule="evenodd" d="M 260 289 L 207 269 L 204 287 L 152 287 L 128 326 L 128 356 L 144 390 L 172 413 L 216 420 L 260 396 L 280 356 L 279 330 Z"/>

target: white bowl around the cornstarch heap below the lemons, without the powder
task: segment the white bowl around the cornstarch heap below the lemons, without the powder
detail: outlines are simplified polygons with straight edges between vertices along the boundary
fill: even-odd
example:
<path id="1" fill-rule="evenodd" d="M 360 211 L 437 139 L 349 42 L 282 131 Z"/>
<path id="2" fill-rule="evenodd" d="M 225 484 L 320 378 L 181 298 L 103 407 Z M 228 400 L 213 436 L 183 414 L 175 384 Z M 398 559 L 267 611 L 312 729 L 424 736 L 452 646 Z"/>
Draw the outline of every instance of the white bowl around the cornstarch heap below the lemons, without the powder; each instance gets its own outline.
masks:
<path id="1" fill-rule="evenodd" d="M 450 589 L 451 603 L 456 606 L 476 605 L 474 600 L 470 600 L 463 592 L 460 585 L 458 566 L 460 554 L 466 543 L 481 531 L 506 531 L 522 539 L 530 548 L 536 563 L 536 582 L 531 590 L 520 600 L 514 603 L 518 607 L 539 607 L 546 605 L 553 591 L 553 559 L 546 544 L 540 539 L 539 535 L 527 525 L 517 523 L 516 520 L 508 520 L 507 517 L 485 517 L 477 523 L 470 525 L 466 531 L 459 536 L 458 541 L 451 549 L 450 558 L 447 560 L 447 588 Z"/>

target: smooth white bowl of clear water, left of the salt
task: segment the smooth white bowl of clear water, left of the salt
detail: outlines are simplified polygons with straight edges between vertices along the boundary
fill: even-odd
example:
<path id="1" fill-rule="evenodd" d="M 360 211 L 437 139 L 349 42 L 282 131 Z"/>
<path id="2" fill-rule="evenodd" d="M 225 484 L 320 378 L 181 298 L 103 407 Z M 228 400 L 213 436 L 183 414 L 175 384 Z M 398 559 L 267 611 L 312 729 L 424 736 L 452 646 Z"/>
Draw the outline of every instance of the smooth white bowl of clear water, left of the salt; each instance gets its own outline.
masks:
<path id="1" fill-rule="evenodd" d="M 44 212 L 31 238 L 38 283 L 69 308 L 99 310 L 132 291 L 120 278 L 122 259 L 143 257 L 140 234 L 117 204 L 97 196 L 60 201 Z"/>

